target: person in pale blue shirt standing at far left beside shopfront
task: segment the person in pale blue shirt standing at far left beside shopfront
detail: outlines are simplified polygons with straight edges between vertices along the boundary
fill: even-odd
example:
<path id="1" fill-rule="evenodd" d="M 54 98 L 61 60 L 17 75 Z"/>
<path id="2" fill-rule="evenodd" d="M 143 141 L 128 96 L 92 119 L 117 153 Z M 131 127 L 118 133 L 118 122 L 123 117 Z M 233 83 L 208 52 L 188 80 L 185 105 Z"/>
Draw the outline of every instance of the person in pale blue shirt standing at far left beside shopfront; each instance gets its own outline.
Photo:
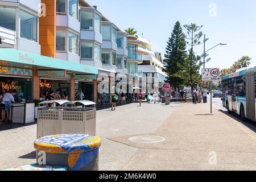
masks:
<path id="1" fill-rule="evenodd" d="M 15 103 L 14 97 L 16 96 L 16 92 L 6 92 L 2 90 L 0 94 L 0 102 L 1 102 L 1 115 L 2 115 L 2 123 L 5 123 L 9 120 L 9 111 L 12 103 Z"/>

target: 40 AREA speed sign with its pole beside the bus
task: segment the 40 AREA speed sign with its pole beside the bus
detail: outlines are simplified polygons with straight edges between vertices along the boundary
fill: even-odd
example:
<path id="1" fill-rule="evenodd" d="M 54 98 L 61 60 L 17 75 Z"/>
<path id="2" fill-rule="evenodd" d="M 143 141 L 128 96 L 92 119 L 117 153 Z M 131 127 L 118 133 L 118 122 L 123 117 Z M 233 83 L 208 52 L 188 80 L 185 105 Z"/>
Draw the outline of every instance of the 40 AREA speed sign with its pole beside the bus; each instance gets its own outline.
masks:
<path id="1" fill-rule="evenodd" d="M 202 80 L 210 82 L 210 114 L 212 114 L 212 82 L 220 81 L 220 68 L 203 68 Z"/>

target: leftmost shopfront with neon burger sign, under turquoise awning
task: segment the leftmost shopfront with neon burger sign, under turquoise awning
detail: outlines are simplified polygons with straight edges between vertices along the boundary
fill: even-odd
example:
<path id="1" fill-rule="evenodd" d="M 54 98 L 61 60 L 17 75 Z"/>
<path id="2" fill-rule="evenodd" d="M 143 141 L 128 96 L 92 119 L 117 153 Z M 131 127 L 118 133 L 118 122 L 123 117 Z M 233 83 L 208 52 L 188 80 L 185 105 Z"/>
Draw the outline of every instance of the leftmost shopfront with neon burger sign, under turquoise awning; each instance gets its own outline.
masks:
<path id="1" fill-rule="evenodd" d="M 16 92 L 16 102 L 32 101 L 32 69 L 0 67 L 0 91 Z"/>

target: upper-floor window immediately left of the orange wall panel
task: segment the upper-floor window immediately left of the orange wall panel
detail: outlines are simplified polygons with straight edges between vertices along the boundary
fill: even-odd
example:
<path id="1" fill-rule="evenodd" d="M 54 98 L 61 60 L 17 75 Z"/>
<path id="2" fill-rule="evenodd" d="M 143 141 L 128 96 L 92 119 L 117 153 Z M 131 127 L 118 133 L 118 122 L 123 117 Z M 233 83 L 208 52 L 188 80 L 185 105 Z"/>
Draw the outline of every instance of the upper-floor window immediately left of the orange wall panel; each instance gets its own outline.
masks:
<path id="1" fill-rule="evenodd" d="M 20 37 L 38 42 L 38 18 L 20 11 Z"/>

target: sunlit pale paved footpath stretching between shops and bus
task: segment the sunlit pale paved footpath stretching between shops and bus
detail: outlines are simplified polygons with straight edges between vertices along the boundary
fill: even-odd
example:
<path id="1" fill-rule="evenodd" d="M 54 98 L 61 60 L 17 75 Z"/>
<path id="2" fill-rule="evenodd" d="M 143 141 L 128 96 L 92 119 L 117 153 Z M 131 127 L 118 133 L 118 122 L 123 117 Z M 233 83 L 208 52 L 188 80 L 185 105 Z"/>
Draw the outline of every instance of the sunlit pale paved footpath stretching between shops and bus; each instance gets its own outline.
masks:
<path id="1" fill-rule="evenodd" d="M 138 135 L 165 140 L 127 140 Z M 102 138 L 100 170 L 256 169 L 255 132 L 218 107 L 209 114 L 209 104 L 130 104 L 99 110 L 97 136 Z M 0 130 L 0 169 L 35 163 L 35 139 L 36 125 Z"/>

